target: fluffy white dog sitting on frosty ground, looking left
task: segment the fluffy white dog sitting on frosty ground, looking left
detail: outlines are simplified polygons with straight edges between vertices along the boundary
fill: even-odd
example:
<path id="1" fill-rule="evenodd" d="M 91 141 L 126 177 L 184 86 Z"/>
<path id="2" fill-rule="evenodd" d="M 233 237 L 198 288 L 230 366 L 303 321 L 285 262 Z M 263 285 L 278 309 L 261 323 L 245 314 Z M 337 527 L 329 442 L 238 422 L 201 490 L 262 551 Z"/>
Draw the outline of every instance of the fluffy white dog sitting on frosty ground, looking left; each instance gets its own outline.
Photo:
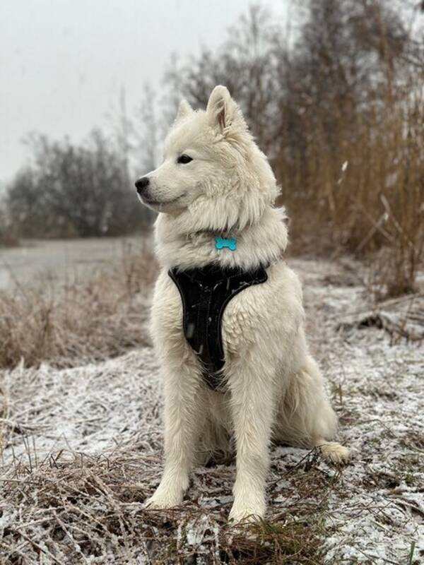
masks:
<path id="1" fill-rule="evenodd" d="M 262 517 L 271 440 L 317 447 L 336 463 L 349 453 L 329 441 L 336 415 L 307 349 L 298 277 L 282 259 L 288 235 L 283 208 L 273 206 L 278 186 L 223 86 L 214 88 L 206 112 L 181 102 L 164 154 L 163 165 L 136 182 L 141 201 L 159 212 L 161 271 L 152 325 L 165 383 L 165 468 L 146 504 L 158 509 L 180 504 L 194 465 L 233 444 L 237 477 L 230 520 Z M 177 274 L 170 276 L 170 270 L 194 273 L 190 284 L 198 284 L 202 268 L 223 276 L 262 275 L 240 283 L 241 292 L 221 309 L 218 390 L 205 376 L 204 344 L 194 350 L 189 343 L 196 338 L 194 326 L 184 322 L 186 310 L 199 304 L 187 302 L 189 288 L 183 313 Z M 210 337 L 203 333 L 200 339 Z"/>

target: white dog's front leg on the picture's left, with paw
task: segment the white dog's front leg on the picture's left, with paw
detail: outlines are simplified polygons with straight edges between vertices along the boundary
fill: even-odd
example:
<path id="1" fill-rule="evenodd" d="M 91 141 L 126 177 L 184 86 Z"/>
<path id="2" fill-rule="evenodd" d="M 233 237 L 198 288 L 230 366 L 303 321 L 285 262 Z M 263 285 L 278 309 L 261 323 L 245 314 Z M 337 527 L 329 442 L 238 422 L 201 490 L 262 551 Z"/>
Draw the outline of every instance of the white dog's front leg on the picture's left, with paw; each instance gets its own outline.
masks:
<path id="1" fill-rule="evenodd" d="M 165 465 L 162 480 L 146 506 L 167 509 L 182 503 L 204 422 L 200 379 L 189 367 L 165 374 Z"/>

